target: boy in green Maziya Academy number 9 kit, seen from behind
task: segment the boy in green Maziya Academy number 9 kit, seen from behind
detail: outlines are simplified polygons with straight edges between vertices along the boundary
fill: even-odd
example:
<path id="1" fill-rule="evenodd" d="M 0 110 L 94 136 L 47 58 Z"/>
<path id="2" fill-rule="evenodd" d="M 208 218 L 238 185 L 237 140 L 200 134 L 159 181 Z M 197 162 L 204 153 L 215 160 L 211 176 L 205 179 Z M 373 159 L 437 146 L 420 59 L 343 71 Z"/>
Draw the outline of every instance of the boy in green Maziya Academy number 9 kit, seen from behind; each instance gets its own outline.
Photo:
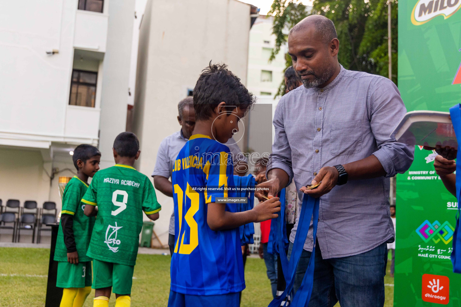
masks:
<path id="1" fill-rule="evenodd" d="M 130 307 L 142 212 L 151 220 L 159 218 L 161 207 L 152 182 L 133 168 L 140 153 L 134 133 L 118 134 L 113 144 L 115 166 L 100 170 L 82 198 L 86 215 L 98 207 L 87 253 L 93 258 L 94 307 L 108 307 L 111 290 L 116 307 Z"/>

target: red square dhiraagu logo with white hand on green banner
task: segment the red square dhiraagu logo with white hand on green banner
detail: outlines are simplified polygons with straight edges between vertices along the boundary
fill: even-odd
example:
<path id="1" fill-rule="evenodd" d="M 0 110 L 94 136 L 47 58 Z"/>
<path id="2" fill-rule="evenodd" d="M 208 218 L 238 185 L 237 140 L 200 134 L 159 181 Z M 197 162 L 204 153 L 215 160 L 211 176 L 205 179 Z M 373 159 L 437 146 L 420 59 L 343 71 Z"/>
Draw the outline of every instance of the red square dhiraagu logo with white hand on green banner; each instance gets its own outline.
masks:
<path id="1" fill-rule="evenodd" d="M 447 305 L 449 302 L 450 280 L 446 276 L 424 274 L 421 296 L 423 301 Z"/>

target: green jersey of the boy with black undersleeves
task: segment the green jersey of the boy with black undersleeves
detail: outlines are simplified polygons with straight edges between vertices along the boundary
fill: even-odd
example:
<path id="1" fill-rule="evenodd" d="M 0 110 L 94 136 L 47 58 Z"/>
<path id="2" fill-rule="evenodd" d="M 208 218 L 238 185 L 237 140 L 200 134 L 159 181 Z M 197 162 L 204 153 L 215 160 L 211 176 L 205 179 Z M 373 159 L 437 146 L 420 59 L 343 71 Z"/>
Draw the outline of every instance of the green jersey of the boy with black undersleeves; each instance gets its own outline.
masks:
<path id="1" fill-rule="evenodd" d="M 72 229 L 74 231 L 75 245 L 78 253 L 78 261 L 91 261 L 87 256 L 91 232 L 95 225 L 95 217 L 88 217 L 83 214 L 85 204 L 82 203 L 82 197 L 88 190 L 88 185 L 74 176 L 67 185 L 65 185 L 62 196 L 62 213 L 73 215 Z M 64 234 L 62 225 L 59 224 L 58 238 L 56 240 L 56 249 L 54 251 L 55 261 L 67 261 L 67 249 L 64 243 Z"/>

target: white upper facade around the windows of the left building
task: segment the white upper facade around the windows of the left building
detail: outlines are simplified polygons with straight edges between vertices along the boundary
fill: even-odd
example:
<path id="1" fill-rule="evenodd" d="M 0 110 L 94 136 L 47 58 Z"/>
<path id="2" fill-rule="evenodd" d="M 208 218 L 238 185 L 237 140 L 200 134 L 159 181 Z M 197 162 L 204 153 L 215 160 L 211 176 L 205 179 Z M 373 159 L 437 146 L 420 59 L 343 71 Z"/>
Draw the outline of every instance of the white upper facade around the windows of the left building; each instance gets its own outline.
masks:
<path id="1" fill-rule="evenodd" d="M 99 114 L 90 108 L 69 114 L 69 109 L 70 113 L 75 110 L 68 105 L 69 92 L 74 46 L 96 50 L 92 49 L 96 42 L 99 51 L 104 51 L 108 15 L 77 13 L 77 3 L 0 2 L 0 145 L 97 144 Z M 76 25 L 76 20 L 84 22 Z M 46 53 L 52 50 L 58 53 Z M 86 130 L 75 128 L 76 116 L 81 116 L 80 126 Z M 69 125 L 67 121 L 73 122 Z"/>

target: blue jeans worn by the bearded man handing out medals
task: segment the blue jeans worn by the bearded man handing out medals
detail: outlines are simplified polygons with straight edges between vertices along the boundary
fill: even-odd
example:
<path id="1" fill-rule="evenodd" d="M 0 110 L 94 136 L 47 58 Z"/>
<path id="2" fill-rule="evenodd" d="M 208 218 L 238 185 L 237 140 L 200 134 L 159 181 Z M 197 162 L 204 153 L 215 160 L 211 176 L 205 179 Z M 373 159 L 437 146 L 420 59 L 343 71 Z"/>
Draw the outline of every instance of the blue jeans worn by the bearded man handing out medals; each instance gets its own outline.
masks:
<path id="1" fill-rule="evenodd" d="M 288 249 L 290 259 L 293 243 Z M 301 286 L 312 252 L 302 250 L 296 268 L 294 290 Z M 315 249 L 315 270 L 309 307 L 383 307 L 387 245 L 359 255 L 322 259 L 319 243 Z"/>

